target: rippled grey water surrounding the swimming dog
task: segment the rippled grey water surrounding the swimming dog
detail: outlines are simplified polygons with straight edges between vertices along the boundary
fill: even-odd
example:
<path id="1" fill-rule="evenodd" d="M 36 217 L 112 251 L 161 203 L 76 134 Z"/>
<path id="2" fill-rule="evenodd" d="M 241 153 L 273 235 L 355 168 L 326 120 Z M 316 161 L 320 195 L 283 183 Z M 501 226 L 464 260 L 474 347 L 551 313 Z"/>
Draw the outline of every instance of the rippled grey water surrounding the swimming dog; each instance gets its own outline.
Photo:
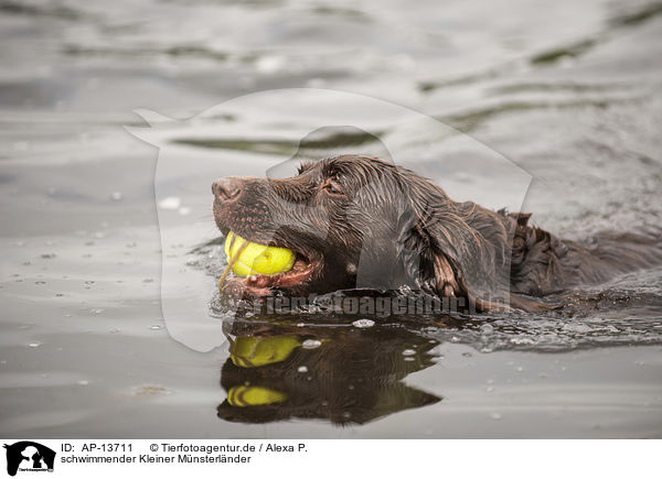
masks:
<path id="1" fill-rule="evenodd" d="M 469 135 L 430 151 L 415 131 L 378 126 L 402 140 L 398 161 L 456 199 L 520 200 L 567 238 L 651 228 L 662 213 L 661 13 L 659 2 L 597 0 L 0 3 L 1 435 L 662 436 L 659 268 L 573 292 L 544 317 L 366 327 L 320 312 L 213 313 L 214 334 L 285 358 L 252 368 L 228 344 L 174 341 L 161 250 L 194 263 L 213 303 L 224 260 L 216 246 L 196 249 L 217 236 L 209 185 L 287 160 L 300 127 L 290 113 L 303 118 L 306 105 L 161 121 L 154 131 L 182 161 L 160 178 L 160 206 L 157 150 L 125 130 L 145 126 L 136 109 L 183 120 L 263 89 L 364 94 Z M 308 111 L 338 124 L 324 115 Z M 302 153 L 378 148 L 355 133 Z M 500 172 L 477 143 L 531 186 L 494 189 Z M 203 162 L 209 171 L 188 166 Z M 200 203 L 182 196 L 200 185 Z M 199 229 L 162 243 L 158 214 Z M 231 393 L 247 380 L 261 389 Z"/>

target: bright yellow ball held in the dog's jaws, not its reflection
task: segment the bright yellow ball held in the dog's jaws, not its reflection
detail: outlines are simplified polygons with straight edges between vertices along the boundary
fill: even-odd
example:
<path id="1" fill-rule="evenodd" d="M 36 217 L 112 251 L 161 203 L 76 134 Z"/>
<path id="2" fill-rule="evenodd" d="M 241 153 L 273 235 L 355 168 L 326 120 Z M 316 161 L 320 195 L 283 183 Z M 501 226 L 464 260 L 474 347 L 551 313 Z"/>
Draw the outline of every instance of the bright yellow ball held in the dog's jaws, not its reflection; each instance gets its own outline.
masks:
<path id="1" fill-rule="evenodd" d="M 248 244 L 242 251 L 245 242 Z M 232 251 L 229 250 L 231 246 Z M 225 239 L 225 254 L 227 254 L 228 262 L 235 260 L 235 257 L 238 254 L 232 266 L 232 271 L 237 276 L 277 274 L 289 271 L 295 265 L 295 253 L 291 250 L 254 243 L 232 231 L 227 233 L 227 238 Z"/>

